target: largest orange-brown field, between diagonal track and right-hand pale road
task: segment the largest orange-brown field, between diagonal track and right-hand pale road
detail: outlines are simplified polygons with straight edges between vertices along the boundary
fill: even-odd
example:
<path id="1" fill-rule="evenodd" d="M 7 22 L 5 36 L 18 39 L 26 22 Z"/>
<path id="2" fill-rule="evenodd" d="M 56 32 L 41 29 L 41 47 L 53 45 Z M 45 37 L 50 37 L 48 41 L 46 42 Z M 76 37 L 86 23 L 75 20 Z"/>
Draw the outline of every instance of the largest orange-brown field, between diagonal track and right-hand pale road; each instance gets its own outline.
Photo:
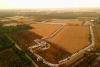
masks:
<path id="1" fill-rule="evenodd" d="M 88 37 L 88 26 L 66 26 L 48 41 L 73 54 L 89 45 Z"/>

